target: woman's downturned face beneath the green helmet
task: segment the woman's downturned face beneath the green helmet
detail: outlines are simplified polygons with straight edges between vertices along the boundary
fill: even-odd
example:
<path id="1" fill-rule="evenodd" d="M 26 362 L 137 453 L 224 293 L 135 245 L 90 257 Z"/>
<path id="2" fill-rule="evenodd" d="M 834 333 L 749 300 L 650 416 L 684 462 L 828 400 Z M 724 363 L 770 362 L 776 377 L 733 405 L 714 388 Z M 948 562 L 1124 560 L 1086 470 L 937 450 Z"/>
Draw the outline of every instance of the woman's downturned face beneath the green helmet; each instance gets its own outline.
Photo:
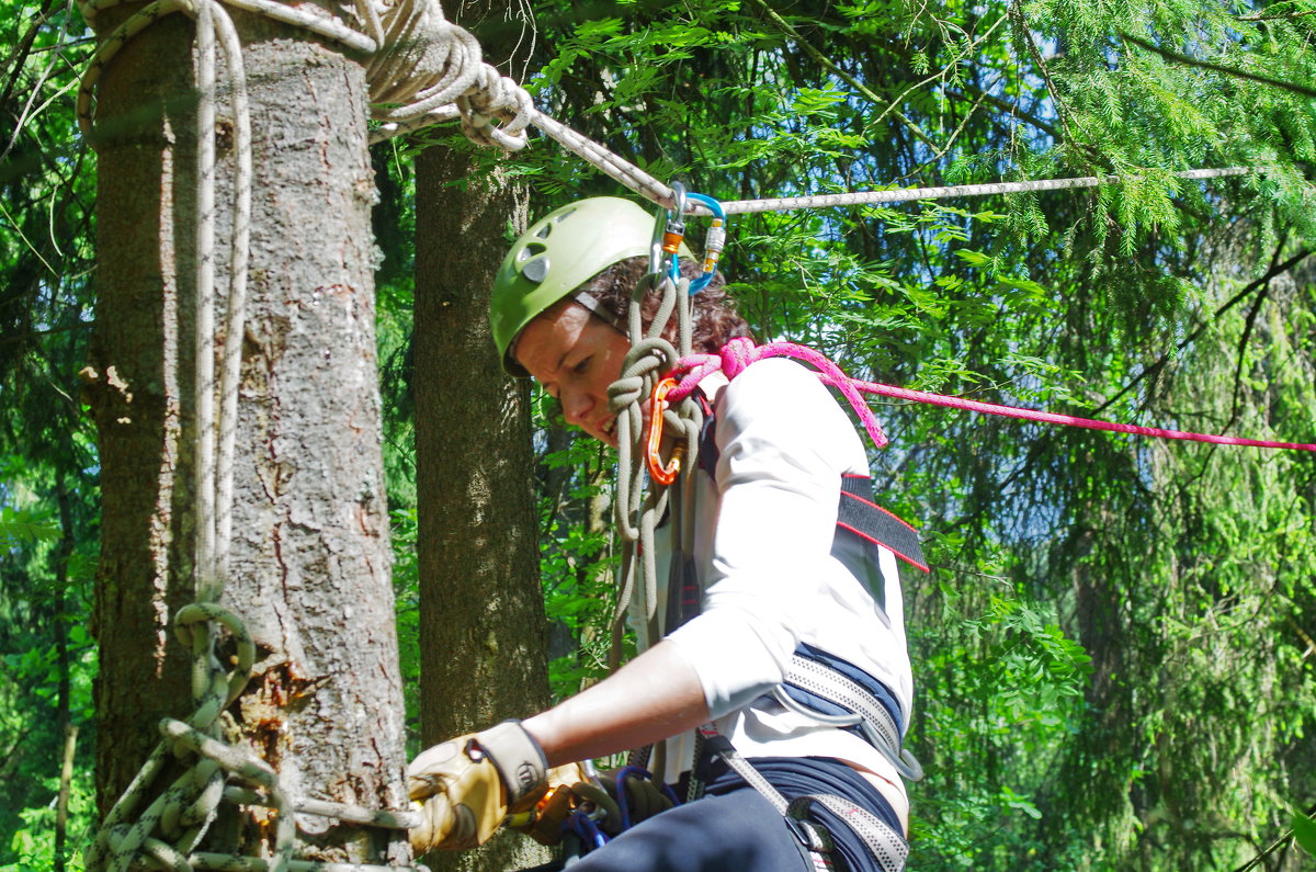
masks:
<path id="1" fill-rule="evenodd" d="M 562 403 L 569 424 L 617 447 L 608 386 L 621 375 L 630 342 L 579 303 L 559 303 L 525 325 L 516 360 Z"/>

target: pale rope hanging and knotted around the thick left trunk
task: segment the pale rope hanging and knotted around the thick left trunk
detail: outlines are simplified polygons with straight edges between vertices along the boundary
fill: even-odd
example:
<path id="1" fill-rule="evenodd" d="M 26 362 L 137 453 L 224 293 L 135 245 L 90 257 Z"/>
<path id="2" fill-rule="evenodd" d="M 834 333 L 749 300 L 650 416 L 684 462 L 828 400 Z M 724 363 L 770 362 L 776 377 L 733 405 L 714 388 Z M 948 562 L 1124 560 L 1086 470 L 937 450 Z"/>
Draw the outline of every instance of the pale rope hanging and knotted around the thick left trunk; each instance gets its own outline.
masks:
<path id="1" fill-rule="evenodd" d="M 96 9 L 113 1 L 87 4 L 91 18 Z M 242 8 L 276 7 L 271 17 L 309 24 L 321 36 L 337 38 L 340 30 L 322 26 L 315 16 L 297 13 L 280 4 L 241 0 Z M 368 872 L 396 869 L 367 864 L 321 863 L 293 859 L 296 842 L 293 813 L 337 818 L 357 826 L 405 830 L 417 823 L 411 811 L 375 810 L 316 800 L 293 801 L 279 784 L 278 773 L 249 751 L 221 740 L 220 715 L 245 689 L 254 661 L 254 643 L 242 620 L 218 605 L 228 574 L 232 537 L 233 460 L 237 429 L 241 346 L 245 331 L 246 285 L 251 202 L 251 124 L 237 29 L 225 8 L 213 0 L 158 0 L 117 28 L 101 45 L 84 78 L 79 95 L 79 119 L 91 123 L 89 88 L 95 86 L 111 58 L 149 24 L 170 12 L 187 12 L 196 21 L 197 54 L 197 225 L 193 391 L 196 399 L 193 514 L 196 541 L 193 584 L 197 602 L 184 606 L 174 618 L 175 632 L 192 656 L 192 695 L 195 711 L 186 721 L 161 722 L 161 743 L 138 771 L 122 797 L 107 815 L 87 851 L 88 869 L 128 869 L 163 865 L 171 869 L 268 869 L 271 872 L 309 871 Z M 293 14 L 286 14 L 293 13 Z M 220 365 L 220 408 L 216 415 L 216 332 L 215 332 L 215 96 L 216 46 L 226 58 L 229 94 L 234 116 L 234 195 L 233 231 L 229 248 L 228 312 Z M 220 630 L 237 645 L 237 663 L 225 672 L 216 656 Z M 147 802 L 150 792 L 170 757 L 190 760 L 188 768 L 171 785 Z M 228 785 L 233 780 L 246 786 Z M 276 815 L 272 859 L 216 852 L 195 852 L 218 806 L 228 801 L 241 806 L 262 806 Z M 145 807 L 143 807 L 145 806 Z M 424 867 L 413 867 L 424 869 Z"/>

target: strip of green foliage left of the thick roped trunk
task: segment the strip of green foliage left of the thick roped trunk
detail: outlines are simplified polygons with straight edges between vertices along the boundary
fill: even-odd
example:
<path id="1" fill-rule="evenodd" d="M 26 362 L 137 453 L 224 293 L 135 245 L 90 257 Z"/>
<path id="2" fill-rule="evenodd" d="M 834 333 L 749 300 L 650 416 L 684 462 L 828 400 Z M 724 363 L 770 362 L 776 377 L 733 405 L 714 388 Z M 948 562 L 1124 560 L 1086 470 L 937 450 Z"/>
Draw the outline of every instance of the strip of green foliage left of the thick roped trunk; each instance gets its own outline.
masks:
<path id="1" fill-rule="evenodd" d="M 97 461 L 78 400 L 95 180 L 67 95 L 87 46 L 72 7 L 0 11 L 0 869 L 75 868 L 95 814 L 86 626 Z M 82 742 L 57 858 L 54 798 L 74 728 Z"/>

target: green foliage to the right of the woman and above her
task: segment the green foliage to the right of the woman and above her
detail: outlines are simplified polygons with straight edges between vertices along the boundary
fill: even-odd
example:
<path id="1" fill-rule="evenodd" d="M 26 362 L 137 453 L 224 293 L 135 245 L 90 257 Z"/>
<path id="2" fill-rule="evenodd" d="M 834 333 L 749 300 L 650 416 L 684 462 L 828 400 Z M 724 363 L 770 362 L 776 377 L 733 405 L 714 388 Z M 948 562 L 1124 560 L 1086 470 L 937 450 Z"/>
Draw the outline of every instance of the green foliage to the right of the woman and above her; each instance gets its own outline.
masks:
<path id="1" fill-rule="evenodd" d="M 1316 242 L 1312 104 L 1121 36 L 1309 82 L 1308 17 L 1159 0 L 607 9 L 540 9 L 540 104 L 715 196 L 1124 177 L 734 216 L 724 265 L 759 337 L 990 402 L 1308 437 L 1311 265 L 1254 279 Z M 517 161 L 551 204 L 616 192 L 550 144 Z M 1257 171 L 1170 175 L 1234 165 Z M 1246 860 L 1286 823 L 1266 797 L 1316 789 L 1303 458 L 882 415 L 884 499 L 924 519 L 936 555 L 929 581 L 907 580 L 930 772 L 915 865 Z M 590 540 L 546 530 L 546 576 L 563 577 L 559 543 Z M 561 614 L 590 599 L 549 590 Z"/>

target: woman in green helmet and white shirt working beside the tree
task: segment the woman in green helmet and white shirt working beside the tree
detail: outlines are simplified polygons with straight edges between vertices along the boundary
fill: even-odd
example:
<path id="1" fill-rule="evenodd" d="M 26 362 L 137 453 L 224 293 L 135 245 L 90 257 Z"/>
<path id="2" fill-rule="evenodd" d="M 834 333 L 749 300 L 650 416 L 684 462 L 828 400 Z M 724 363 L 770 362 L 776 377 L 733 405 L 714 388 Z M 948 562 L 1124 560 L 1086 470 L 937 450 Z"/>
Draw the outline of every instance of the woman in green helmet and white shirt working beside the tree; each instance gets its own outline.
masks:
<path id="1" fill-rule="evenodd" d="M 507 370 L 611 445 L 608 390 L 653 232 L 628 200 L 561 208 L 513 245 L 491 300 Z M 659 298 L 645 298 L 646 327 Z M 690 324 L 695 352 L 749 333 L 717 282 L 692 298 Z M 713 373 L 695 398 L 705 422 L 680 508 L 694 533 L 674 559 L 690 581 L 666 585 L 671 607 L 659 591 L 666 622 L 636 622 L 641 653 L 575 697 L 421 753 L 417 850 L 470 847 L 508 822 L 549 843 L 582 836 L 582 872 L 903 868 L 912 680 L 895 557 L 878 544 L 891 543 L 866 520 L 880 510 L 863 444 L 794 361 Z M 576 764 L 645 746 L 653 781 Z"/>

